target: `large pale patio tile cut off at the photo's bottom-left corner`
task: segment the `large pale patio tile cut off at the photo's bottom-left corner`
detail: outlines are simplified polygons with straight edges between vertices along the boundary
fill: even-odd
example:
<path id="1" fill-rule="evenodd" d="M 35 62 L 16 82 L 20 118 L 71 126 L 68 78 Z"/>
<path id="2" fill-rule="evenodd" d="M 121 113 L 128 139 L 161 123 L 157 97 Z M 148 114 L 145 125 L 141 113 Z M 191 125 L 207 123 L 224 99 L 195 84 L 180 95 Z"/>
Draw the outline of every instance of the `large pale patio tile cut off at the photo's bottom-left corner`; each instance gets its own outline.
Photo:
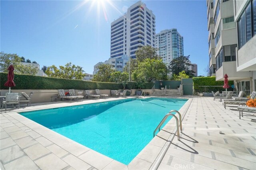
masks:
<path id="1" fill-rule="evenodd" d="M 26 163 L 24 163 L 26 162 Z M 6 170 L 37 170 L 38 166 L 28 157 L 23 156 L 4 165 Z"/>

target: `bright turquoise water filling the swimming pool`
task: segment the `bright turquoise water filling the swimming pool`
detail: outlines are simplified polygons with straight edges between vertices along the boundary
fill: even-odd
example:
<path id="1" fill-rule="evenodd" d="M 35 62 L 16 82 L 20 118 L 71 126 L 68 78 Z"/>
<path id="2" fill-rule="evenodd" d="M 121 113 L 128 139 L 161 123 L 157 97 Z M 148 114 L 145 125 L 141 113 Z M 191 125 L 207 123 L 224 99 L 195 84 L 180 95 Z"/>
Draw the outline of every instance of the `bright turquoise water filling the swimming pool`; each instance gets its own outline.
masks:
<path id="1" fill-rule="evenodd" d="M 129 164 L 152 140 L 153 132 L 164 115 L 170 110 L 179 110 L 186 101 L 125 99 L 21 115 L 110 158 Z"/>

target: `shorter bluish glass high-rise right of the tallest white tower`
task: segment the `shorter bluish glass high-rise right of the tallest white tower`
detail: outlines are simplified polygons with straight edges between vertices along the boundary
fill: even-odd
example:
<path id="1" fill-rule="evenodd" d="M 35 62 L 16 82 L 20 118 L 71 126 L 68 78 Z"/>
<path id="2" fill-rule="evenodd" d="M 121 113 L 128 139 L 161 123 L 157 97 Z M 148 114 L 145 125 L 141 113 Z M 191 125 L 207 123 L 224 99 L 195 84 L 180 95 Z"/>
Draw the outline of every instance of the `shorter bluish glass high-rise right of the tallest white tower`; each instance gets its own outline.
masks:
<path id="1" fill-rule="evenodd" d="M 166 64 L 169 64 L 172 59 L 184 55 L 183 37 L 176 28 L 163 30 L 156 34 L 156 47 L 159 49 L 158 55 Z"/>

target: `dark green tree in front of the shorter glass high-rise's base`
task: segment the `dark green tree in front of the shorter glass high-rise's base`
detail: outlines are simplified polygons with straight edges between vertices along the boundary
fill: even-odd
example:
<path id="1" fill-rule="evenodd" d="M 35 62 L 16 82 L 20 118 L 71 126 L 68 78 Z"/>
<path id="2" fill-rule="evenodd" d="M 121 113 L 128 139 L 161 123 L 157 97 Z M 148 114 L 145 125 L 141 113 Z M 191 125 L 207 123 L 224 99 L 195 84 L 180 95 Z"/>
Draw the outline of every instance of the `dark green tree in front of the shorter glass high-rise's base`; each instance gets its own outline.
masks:
<path id="1" fill-rule="evenodd" d="M 185 71 L 186 75 L 193 75 L 194 71 L 189 69 L 191 65 L 192 64 L 189 61 L 189 55 L 180 56 L 172 59 L 168 68 L 172 72 L 172 74 L 178 75 L 180 72 Z"/>

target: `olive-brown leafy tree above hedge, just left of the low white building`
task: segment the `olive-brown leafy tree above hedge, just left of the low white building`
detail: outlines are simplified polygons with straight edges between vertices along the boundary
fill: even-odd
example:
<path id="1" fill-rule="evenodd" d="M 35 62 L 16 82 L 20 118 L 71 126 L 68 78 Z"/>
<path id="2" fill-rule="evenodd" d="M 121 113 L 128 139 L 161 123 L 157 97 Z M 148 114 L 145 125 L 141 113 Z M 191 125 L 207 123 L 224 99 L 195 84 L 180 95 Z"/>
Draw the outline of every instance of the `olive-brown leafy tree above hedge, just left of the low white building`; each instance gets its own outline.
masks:
<path id="1" fill-rule="evenodd" d="M 99 71 L 93 76 L 92 81 L 111 82 L 111 73 L 115 71 L 114 69 L 112 69 L 112 65 L 101 64 L 98 65 L 98 69 Z"/>

